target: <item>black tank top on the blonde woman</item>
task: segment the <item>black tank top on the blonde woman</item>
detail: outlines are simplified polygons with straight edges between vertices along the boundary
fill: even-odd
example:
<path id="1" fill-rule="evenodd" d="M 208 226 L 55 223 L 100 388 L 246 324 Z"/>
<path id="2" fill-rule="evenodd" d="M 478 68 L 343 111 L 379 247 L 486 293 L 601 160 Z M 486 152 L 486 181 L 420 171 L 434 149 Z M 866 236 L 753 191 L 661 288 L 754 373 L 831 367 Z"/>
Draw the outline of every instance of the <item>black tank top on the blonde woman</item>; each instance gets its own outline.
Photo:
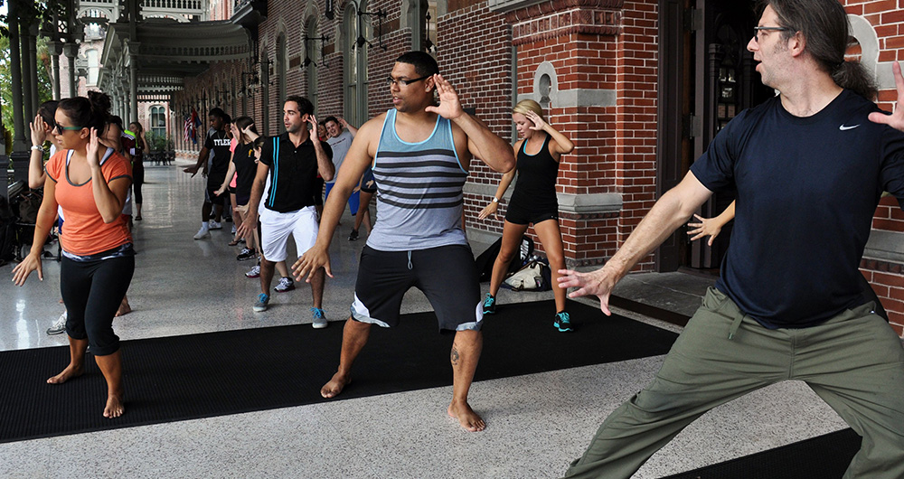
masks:
<path id="1" fill-rule="evenodd" d="M 543 208 L 558 210 L 556 199 L 556 178 L 559 176 L 559 162 L 550 153 L 551 136 L 543 140 L 543 146 L 536 155 L 524 152 L 525 139 L 518 150 L 518 182 L 514 185 L 512 204 L 532 210 Z"/>

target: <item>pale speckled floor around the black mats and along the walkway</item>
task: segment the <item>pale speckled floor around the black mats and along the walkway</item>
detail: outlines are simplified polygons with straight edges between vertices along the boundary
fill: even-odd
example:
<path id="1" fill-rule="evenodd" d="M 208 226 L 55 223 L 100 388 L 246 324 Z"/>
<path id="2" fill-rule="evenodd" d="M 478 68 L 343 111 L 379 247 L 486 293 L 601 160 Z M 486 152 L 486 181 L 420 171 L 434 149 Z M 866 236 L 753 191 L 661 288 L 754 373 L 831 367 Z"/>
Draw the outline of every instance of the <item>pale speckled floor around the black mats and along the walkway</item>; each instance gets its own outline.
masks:
<path id="1" fill-rule="evenodd" d="M 192 240 L 200 225 L 200 177 L 148 166 L 146 181 L 128 293 L 134 312 L 114 323 L 122 339 L 311 322 L 306 287 L 274 294 L 266 313 L 251 311 L 258 282 L 242 275 L 252 264 L 234 259 L 238 249 L 226 245 L 228 230 Z M 345 240 L 350 225 L 346 217 L 331 251 L 335 278 L 325 294 L 331 320 L 348 310 L 364 242 Z M 476 252 L 484 247 L 474 245 Z M 42 282 L 31 277 L 21 288 L 0 282 L 0 351 L 66 343 L 64 334 L 44 333 L 63 309 L 59 265 L 44 265 Z M 9 277 L 10 270 L 2 267 L 0 275 Z M 654 283 L 654 277 L 632 278 L 626 289 L 645 296 L 643 285 Z M 504 290 L 499 299 L 539 297 L 551 293 Z M 403 308 L 429 305 L 413 291 Z M 338 362 L 338 348 L 335 353 Z M 438 388 L 0 444 L 0 477 L 558 477 L 607 413 L 641 389 L 661 362 L 660 356 L 478 382 L 470 399 L 487 429 L 477 434 L 447 418 L 451 388 Z M 662 477 L 843 427 L 804 384 L 786 382 L 714 409 L 635 477 Z"/>

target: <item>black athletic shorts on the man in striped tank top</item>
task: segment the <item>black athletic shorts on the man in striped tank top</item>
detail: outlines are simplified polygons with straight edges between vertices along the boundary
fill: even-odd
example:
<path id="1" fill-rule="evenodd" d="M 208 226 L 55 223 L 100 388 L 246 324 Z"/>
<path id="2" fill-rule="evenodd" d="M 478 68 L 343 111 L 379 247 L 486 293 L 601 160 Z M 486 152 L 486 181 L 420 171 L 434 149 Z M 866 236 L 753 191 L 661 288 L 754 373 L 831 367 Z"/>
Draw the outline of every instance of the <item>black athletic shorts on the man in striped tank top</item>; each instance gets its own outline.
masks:
<path id="1" fill-rule="evenodd" d="M 439 330 L 480 330 L 484 310 L 469 246 L 380 251 L 364 246 L 354 286 L 352 317 L 362 323 L 399 324 L 401 299 L 417 287 L 437 314 Z"/>

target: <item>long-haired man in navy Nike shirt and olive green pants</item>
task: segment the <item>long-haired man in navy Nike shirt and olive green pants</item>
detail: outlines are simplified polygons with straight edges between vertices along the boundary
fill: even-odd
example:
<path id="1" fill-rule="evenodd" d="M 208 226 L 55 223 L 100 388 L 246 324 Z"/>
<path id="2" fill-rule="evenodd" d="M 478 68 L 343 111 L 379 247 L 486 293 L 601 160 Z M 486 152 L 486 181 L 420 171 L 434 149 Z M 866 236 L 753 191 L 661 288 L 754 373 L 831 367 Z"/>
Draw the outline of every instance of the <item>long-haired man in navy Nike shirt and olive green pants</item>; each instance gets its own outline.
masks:
<path id="1" fill-rule="evenodd" d="M 863 437 L 844 478 L 904 477 L 904 348 L 857 277 L 881 193 L 904 204 L 904 111 L 881 113 L 871 76 L 844 61 L 838 0 L 763 5 L 748 50 L 781 93 L 723 128 L 603 268 L 560 270 L 560 286 L 578 287 L 570 296 L 599 296 L 608 315 L 612 287 L 638 260 L 712 192 L 738 192 L 719 280 L 569 477 L 630 477 L 709 409 L 781 380 L 805 381 Z"/>

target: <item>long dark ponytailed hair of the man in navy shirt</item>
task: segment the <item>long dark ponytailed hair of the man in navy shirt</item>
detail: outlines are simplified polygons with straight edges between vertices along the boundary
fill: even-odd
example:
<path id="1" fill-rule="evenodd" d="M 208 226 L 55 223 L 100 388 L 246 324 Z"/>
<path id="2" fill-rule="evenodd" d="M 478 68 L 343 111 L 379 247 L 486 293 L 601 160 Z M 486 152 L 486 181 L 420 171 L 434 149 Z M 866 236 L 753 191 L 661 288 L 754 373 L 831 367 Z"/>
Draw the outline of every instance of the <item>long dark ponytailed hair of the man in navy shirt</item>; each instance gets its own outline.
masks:
<path id="1" fill-rule="evenodd" d="M 870 72 L 860 61 L 844 61 L 850 25 L 838 0 L 760 0 L 760 14 L 767 5 L 776 11 L 780 26 L 791 29 L 782 32 L 783 39 L 800 32 L 805 38 L 806 52 L 832 75 L 839 87 L 852 89 L 866 99 L 876 99 L 879 91 Z"/>

